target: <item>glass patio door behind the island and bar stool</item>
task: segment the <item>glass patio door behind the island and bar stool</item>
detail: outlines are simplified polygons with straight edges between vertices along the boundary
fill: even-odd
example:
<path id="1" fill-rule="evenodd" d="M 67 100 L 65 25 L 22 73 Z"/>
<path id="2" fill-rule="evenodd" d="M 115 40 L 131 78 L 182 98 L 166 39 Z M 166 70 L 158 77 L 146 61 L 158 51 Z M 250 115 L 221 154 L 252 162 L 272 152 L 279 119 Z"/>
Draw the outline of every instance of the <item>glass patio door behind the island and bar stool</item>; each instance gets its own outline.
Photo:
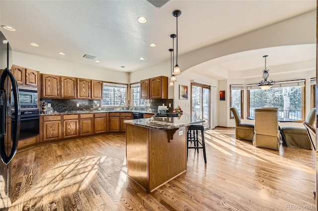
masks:
<path id="1" fill-rule="evenodd" d="M 191 115 L 204 119 L 204 128 L 210 128 L 210 86 L 191 84 Z"/>

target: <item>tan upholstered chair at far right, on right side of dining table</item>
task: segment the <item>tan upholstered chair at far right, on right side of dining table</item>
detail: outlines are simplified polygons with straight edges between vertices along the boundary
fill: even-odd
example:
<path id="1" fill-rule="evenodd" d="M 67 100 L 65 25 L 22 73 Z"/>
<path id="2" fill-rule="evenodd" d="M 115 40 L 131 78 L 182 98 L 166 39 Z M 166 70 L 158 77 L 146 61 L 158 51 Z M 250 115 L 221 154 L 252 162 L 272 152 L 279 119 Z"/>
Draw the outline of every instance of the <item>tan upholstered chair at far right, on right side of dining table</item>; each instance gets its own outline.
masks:
<path id="1" fill-rule="evenodd" d="M 316 127 L 316 107 L 308 114 L 306 122 Z M 296 146 L 305 149 L 312 149 L 312 143 L 309 139 L 307 129 L 300 127 L 282 127 L 282 132 L 285 136 L 288 146 Z"/>

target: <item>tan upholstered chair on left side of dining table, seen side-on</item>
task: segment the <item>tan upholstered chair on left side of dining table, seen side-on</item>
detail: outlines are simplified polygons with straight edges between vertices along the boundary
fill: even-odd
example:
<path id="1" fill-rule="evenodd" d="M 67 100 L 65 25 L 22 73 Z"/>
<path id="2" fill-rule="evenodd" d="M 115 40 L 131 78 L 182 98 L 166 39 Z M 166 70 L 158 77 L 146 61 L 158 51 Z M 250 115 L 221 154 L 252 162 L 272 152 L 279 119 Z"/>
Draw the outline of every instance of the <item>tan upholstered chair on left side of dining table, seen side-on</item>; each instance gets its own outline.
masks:
<path id="1" fill-rule="evenodd" d="M 236 107 L 231 107 L 230 110 L 233 112 L 234 119 L 235 119 L 235 125 L 236 125 L 235 138 L 252 141 L 254 136 L 254 125 L 241 124 L 238 109 Z"/>

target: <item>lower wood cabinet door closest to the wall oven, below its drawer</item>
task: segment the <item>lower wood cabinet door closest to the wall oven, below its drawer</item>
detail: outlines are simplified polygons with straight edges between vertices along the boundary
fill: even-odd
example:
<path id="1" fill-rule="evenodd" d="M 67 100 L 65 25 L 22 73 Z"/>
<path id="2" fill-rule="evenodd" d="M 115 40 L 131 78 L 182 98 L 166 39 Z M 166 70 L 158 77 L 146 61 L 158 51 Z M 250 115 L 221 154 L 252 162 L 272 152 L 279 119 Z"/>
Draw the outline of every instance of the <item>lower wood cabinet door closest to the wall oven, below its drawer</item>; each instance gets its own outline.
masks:
<path id="1" fill-rule="evenodd" d="M 43 122 L 43 141 L 51 141 L 62 138 L 61 121 Z"/>

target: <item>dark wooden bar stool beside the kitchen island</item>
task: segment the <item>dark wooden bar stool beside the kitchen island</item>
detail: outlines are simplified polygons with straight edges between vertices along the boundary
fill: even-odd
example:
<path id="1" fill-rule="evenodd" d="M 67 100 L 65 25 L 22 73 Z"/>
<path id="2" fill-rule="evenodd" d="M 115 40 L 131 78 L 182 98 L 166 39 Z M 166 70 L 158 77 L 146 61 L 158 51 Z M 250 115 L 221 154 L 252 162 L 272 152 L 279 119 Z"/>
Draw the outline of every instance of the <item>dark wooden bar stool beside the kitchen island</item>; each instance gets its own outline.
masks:
<path id="1" fill-rule="evenodd" d="M 201 131 L 201 142 L 199 141 L 198 131 Z M 192 142 L 194 146 L 191 147 Z M 190 146 L 189 146 L 190 143 Z M 204 127 L 203 125 L 190 125 L 187 131 L 187 151 L 189 149 L 196 149 L 199 153 L 199 149 L 203 149 L 204 162 L 207 163 L 207 157 L 205 154 L 205 143 L 204 143 Z M 187 153 L 188 159 L 188 153 Z"/>

